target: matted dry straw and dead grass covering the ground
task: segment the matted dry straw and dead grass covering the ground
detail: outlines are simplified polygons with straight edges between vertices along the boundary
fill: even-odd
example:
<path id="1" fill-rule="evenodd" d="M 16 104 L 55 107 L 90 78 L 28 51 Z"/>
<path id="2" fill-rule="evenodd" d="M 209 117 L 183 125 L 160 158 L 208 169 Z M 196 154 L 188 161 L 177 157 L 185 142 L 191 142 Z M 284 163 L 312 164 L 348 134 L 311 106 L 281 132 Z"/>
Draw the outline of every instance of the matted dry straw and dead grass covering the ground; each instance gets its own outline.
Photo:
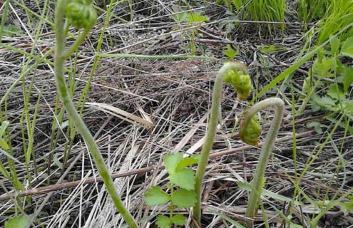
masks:
<path id="1" fill-rule="evenodd" d="M 102 56 L 95 67 L 108 3 L 99 1 L 98 23 L 77 56 L 66 61 L 71 72 L 69 87 L 123 201 L 140 221 L 140 227 L 155 227 L 155 216 L 167 212 L 167 207 L 146 206 L 143 194 L 148 187 L 166 182 L 166 173 L 160 167 L 166 152 L 200 152 L 213 80 L 227 58 L 222 53 L 227 45 L 239 51 L 235 59 L 250 71 L 254 97 L 307 52 L 303 49 L 308 43 L 305 27 L 312 28 L 314 23 L 297 22 L 292 1 L 287 4 L 283 33 L 278 28 L 271 34 L 259 23 L 232 22 L 234 15 L 227 15 L 226 6 L 214 1 L 124 1 L 113 6 L 101 53 L 145 58 Z M 190 28 L 190 24 L 173 19 L 176 5 L 209 19 Z M 4 3 L 0 2 L 0 8 L 2 14 Z M 9 92 L 0 106 L 0 120 L 10 123 L 10 151 L 19 162 L 0 153 L 0 168 L 3 166 L 12 177 L 6 178 L 4 171 L 0 175 L 0 226 L 14 214 L 26 213 L 31 215 L 33 227 L 123 227 L 123 219 L 101 184 L 85 143 L 58 102 L 52 64 L 55 53 L 47 53 L 46 61 L 40 59 L 55 45 L 51 28 L 54 9 L 54 1 L 11 1 L 6 16 L 5 28 L 14 32 L 4 34 L 0 47 L 0 98 Z M 230 30 L 230 26 L 234 28 Z M 72 28 L 71 33 L 76 30 Z M 195 45 L 196 56 L 190 55 L 190 43 Z M 180 54 L 190 56 L 175 57 Z M 163 56 L 152 57 L 159 55 Z M 353 187 L 351 120 L 344 117 L 337 122 L 342 116 L 339 112 L 314 110 L 311 103 L 302 113 L 293 113 L 302 105 L 302 85 L 313 60 L 258 99 L 277 96 L 287 104 L 265 173 L 265 189 L 300 202 L 290 207 L 290 202 L 265 195 L 263 214 L 272 227 L 286 227 L 279 211 L 288 215 L 289 208 L 293 223 L 309 227 L 322 202 L 337 199 Z M 342 61 L 349 63 L 349 58 Z M 230 86 L 225 86 L 222 125 L 205 177 L 204 227 L 234 227 L 227 219 L 240 221 L 245 216 L 248 192 L 237 182 L 250 182 L 260 149 L 241 142 L 237 128 L 232 134 L 235 121 L 242 118 L 249 103 L 236 97 Z M 269 111 L 260 116 L 262 137 L 272 114 Z M 316 129 L 312 123 L 319 123 Z M 26 165 L 24 153 L 32 146 Z M 296 187 L 297 174 L 306 169 L 309 160 L 313 162 Z M 14 191 L 14 175 L 21 183 L 17 189 L 21 193 Z M 300 194 L 293 195 L 296 188 Z M 342 200 L 348 202 L 349 198 Z M 190 215 L 190 211 L 183 213 Z M 265 226 L 260 211 L 255 219 L 260 221 L 256 227 Z M 319 227 L 352 224 L 352 214 L 344 215 L 337 205 L 324 213 Z"/>

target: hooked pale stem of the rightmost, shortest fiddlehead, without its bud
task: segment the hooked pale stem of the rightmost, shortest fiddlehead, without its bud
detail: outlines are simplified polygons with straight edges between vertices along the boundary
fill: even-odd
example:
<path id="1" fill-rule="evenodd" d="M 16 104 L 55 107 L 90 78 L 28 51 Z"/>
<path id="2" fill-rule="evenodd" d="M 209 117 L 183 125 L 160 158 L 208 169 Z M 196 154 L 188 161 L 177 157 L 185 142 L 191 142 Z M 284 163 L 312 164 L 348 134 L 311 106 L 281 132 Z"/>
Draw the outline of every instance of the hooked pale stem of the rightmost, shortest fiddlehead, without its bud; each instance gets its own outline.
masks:
<path id="1" fill-rule="evenodd" d="M 259 112 L 260 110 L 264 110 L 272 106 L 275 109 L 275 115 L 273 117 L 270 130 L 268 130 L 268 133 L 266 135 L 265 142 L 262 146 L 262 152 L 260 154 L 259 162 L 256 167 L 254 180 L 252 181 L 250 199 L 247 204 L 247 210 L 246 210 L 247 217 L 254 217 L 255 213 L 257 213 L 257 209 L 260 201 L 260 195 L 262 192 L 265 169 L 266 169 L 276 136 L 278 134 L 278 130 L 280 130 L 283 113 L 285 111 L 285 103 L 280 98 L 267 98 L 265 100 L 262 100 L 259 103 L 253 105 L 252 108 L 247 110 L 247 113 L 245 114 L 244 122 L 242 123 L 242 127 L 245 127 L 250 122 L 253 115 L 256 115 L 256 113 Z"/>

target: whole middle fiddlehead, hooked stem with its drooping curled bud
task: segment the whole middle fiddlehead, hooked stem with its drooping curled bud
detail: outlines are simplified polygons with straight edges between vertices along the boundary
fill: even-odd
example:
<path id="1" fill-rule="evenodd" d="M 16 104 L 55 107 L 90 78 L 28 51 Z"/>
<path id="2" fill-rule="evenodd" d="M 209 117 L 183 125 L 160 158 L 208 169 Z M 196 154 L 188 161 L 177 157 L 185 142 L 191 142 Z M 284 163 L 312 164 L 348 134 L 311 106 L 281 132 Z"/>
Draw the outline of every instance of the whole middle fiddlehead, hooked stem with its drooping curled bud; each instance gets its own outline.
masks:
<path id="1" fill-rule="evenodd" d="M 194 207 L 194 217 L 196 222 L 198 222 L 199 227 L 201 223 L 201 187 L 203 177 L 205 175 L 205 169 L 208 164 L 210 150 L 212 149 L 213 140 L 215 139 L 217 123 L 220 117 L 219 107 L 223 81 L 230 83 L 230 85 L 237 91 L 238 97 L 242 100 L 246 99 L 250 95 L 252 88 L 250 76 L 242 63 L 225 63 L 225 65 L 220 68 L 220 71 L 215 79 L 210 122 L 208 123 L 206 140 L 203 145 L 203 150 L 201 152 L 200 161 L 198 162 L 198 170 L 196 171 L 195 177 L 195 192 L 198 195 L 198 201 Z"/>

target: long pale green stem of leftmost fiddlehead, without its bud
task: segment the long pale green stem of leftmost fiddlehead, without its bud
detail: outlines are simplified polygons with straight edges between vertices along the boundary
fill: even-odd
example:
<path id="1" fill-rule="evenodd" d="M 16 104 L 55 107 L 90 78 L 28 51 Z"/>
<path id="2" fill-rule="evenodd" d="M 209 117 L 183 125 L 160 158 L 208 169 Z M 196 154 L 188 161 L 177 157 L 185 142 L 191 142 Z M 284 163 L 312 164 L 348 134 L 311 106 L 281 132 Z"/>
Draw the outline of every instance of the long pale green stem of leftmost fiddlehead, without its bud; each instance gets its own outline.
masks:
<path id="1" fill-rule="evenodd" d="M 133 219 L 132 215 L 128 212 L 128 209 L 123 205 L 121 198 L 118 196 L 118 192 L 116 191 L 116 187 L 114 186 L 111 175 L 109 175 L 109 170 L 104 163 L 101 152 L 98 149 L 98 145 L 91 135 L 90 131 L 86 127 L 85 123 L 81 119 L 81 116 L 78 115 L 75 106 L 72 103 L 70 95 L 68 93 L 68 89 L 66 87 L 66 83 L 64 81 L 63 75 L 63 67 L 65 56 L 63 54 L 63 49 L 65 47 L 65 32 L 63 28 L 63 18 L 64 18 L 64 9 L 66 6 L 66 0 L 58 0 L 56 6 L 56 20 L 55 20 L 55 31 L 56 31 L 56 56 L 55 56 L 55 74 L 56 74 L 56 86 L 58 88 L 58 94 L 63 102 L 63 106 L 66 109 L 69 118 L 71 118 L 72 122 L 76 126 L 78 132 L 81 134 L 83 140 L 85 140 L 88 150 L 91 152 L 94 162 L 96 163 L 96 167 L 98 169 L 99 174 L 102 177 L 104 185 L 106 185 L 106 189 L 111 195 L 118 212 L 121 213 L 121 216 L 125 219 L 126 223 L 129 227 L 137 228 L 137 224 Z"/>

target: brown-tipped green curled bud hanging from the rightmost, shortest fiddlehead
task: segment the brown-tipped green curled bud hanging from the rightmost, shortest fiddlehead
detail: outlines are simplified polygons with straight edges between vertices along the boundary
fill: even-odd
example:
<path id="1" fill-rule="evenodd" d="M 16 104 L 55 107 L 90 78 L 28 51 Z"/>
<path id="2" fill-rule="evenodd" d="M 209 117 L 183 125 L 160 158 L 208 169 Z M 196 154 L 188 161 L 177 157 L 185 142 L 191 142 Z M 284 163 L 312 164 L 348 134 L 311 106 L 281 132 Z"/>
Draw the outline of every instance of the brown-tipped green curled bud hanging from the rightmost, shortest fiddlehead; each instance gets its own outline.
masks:
<path id="1" fill-rule="evenodd" d="M 257 115 L 253 115 L 249 121 L 244 121 L 239 129 L 242 142 L 250 145 L 259 145 L 261 132 L 262 127 L 257 120 Z"/>

